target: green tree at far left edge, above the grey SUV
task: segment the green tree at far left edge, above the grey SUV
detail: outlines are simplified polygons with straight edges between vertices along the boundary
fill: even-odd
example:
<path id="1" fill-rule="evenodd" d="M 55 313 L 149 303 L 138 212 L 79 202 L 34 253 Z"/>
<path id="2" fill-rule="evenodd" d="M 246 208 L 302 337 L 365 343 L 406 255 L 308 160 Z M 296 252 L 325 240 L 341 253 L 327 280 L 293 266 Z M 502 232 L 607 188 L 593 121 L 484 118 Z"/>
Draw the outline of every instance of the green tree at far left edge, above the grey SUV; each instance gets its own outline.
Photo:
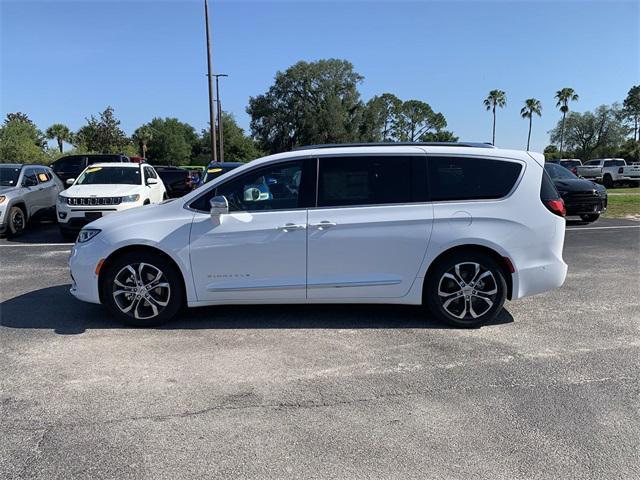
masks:
<path id="1" fill-rule="evenodd" d="M 0 163 L 48 163 L 42 132 L 24 113 L 9 113 L 0 127 Z"/>

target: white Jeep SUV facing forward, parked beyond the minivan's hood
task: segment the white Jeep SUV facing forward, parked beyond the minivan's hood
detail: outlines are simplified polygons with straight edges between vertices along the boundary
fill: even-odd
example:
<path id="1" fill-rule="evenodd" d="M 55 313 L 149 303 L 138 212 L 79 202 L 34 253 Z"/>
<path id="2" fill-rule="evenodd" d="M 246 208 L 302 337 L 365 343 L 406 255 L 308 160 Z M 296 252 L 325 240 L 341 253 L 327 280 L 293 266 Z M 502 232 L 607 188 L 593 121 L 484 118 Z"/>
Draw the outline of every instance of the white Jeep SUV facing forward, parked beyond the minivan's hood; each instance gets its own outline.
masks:
<path id="1" fill-rule="evenodd" d="M 160 203 L 167 197 L 162 180 L 151 165 L 96 163 L 70 178 L 58 195 L 56 214 L 63 237 L 75 239 L 80 229 L 104 215 Z"/>

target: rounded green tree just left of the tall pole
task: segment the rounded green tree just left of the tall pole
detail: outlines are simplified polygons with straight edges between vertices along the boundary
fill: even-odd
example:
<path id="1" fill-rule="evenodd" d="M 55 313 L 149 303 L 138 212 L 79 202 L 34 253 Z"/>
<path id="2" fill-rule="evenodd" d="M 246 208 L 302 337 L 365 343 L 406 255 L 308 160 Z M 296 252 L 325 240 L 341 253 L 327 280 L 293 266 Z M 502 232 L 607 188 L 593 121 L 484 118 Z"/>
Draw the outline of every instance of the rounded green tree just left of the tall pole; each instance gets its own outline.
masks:
<path id="1" fill-rule="evenodd" d="M 185 165 L 190 162 L 198 143 L 191 125 L 177 118 L 154 118 L 147 127 L 153 132 L 147 150 L 151 163 Z"/>

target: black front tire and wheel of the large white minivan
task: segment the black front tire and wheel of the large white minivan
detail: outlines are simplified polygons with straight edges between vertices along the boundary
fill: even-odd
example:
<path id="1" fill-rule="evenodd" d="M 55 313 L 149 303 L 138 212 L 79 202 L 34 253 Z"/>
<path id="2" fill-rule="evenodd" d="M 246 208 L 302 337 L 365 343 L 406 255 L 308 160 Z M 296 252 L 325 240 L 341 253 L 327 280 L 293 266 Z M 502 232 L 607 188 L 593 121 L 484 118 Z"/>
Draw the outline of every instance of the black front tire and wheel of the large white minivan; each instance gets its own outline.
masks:
<path id="1" fill-rule="evenodd" d="M 140 264 L 146 265 L 142 268 L 142 275 L 140 275 Z M 128 266 L 138 272 L 136 278 L 130 273 L 131 270 L 128 269 Z M 157 271 L 162 274 L 162 277 L 157 283 L 154 283 L 151 278 L 157 276 Z M 140 250 L 125 253 L 110 262 L 103 275 L 103 303 L 111 313 L 127 325 L 135 327 L 162 325 L 175 317 L 184 304 L 184 291 L 180 271 L 173 263 L 153 252 Z M 142 281 L 148 282 L 148 285 L 166 283 L 168 284 L 168 290 L 167 287 L 151 288 L 148 291 L 141 290 L 139 283 L 136 285 L 136 283 L 127 282 L 126 278 L 131 278 L 134 281 L 142 278 Z M 118 288 L 116 280 L 124 287 Z M 126 293 L 114 295 L 116 288 L 118 288 L 118 291 Z M 131 291 L 131 294 L 128 291 Z M 149 296 L 152 301 L 146 300 Z M 137 304 L 136 299 L 138 299 Z M 135 309 L 131 308 L 129 312 L 125 312 L 129 302 L 132 307 L 135 304 Z M 153 312 L 154 307 L 152 305 L 155 305 L 156 314 Z"/>

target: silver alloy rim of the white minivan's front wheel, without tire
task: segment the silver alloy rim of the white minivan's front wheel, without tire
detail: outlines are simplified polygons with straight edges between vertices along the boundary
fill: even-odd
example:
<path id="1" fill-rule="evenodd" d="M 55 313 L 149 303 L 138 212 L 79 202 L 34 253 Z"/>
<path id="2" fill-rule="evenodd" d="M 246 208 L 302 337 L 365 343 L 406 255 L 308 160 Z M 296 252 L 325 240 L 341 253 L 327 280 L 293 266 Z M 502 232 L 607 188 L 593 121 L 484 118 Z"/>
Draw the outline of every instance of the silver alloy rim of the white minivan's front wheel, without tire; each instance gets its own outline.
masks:
<path id="1" fill-rule="evenodd" d="M 130 317 L 158 316 L 169 303 L 171 286 L 162 270 L 148 263 L 126 265 L 113 280 L 113 299 Z"/>

